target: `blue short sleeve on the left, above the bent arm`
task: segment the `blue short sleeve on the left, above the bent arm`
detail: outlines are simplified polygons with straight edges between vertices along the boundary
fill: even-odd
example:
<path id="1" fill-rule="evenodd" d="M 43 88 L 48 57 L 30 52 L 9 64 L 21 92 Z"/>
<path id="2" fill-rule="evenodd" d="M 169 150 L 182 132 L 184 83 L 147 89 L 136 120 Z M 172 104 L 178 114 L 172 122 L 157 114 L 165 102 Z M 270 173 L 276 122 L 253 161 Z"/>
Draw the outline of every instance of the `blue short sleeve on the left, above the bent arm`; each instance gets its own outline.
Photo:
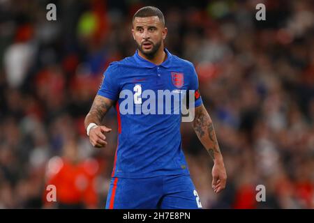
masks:
<path id="1" fill-rule="evenodd" d="M 118 68 L 117 64 L 110 63 L 110 66 L 103 73 L 103 82 L 100 84 L 98 95 L 114 101 L 119 99 Z"/>

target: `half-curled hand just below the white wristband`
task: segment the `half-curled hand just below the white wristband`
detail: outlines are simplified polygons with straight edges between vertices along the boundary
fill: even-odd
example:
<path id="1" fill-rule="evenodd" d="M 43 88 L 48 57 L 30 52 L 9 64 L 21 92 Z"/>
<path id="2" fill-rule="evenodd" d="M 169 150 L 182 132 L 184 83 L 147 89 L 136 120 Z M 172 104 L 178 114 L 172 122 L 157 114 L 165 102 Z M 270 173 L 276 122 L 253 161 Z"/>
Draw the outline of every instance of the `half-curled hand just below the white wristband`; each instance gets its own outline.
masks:
<path id="1" fill-rule="evenodd" d="M 91 142 L 91 145 L 96 148 L 106 147 L 107 141 L 105 141 L 105 132 L 111 132 L 111 128 L 107 128 L 104 125 L 91 128 L 91 130 L 89 130 L 89 141 Z"/>

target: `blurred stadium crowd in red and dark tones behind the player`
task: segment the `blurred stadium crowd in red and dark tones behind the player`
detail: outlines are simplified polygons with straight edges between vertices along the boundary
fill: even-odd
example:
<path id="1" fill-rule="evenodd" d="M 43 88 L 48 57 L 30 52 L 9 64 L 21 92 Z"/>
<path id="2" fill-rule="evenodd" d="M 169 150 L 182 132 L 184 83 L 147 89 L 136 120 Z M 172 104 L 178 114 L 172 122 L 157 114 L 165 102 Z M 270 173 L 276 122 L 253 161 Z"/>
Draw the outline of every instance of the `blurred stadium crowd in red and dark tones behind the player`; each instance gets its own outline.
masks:
<path id="1" fill-rule="evenodd" d="M 57 21 L 46 20 L 56 3 Z M 264 3 L 266 21 L 255 20 Z M 314 208 L 313 1 L 0 1 L 0 208 L 104 208 L 109 146 L 91 148 L 84 116 L 111 61 L 130 56 L 131 17 L 166 20 L 166 47 L 195 64 L 227 187 L 189 123 L 184 152 L 204 208 Z M 57 203 L 45 202 L 45 186 Z M 266 202 L 255 200 L 265 185 Z"/>

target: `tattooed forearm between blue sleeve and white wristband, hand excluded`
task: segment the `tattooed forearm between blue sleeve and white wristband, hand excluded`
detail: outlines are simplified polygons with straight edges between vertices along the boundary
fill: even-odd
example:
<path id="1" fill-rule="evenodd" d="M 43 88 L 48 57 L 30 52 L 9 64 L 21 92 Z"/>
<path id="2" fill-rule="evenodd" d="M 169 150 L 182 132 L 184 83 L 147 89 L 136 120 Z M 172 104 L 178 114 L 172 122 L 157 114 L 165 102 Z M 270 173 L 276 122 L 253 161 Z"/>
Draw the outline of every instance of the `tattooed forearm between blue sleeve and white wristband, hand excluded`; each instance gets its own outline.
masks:
<path id="1" fill-rule="evenodd" d="M 100 95 L 96 95 L 93 105 L 91 105 L 91 110 L 89 111 L 89 114 L 87 114 L 87 116 L 85 117 L 85 128 L 87 128 L 89 123 L 96 123 L 96 125 L 101 125 L 103 117 L 108 112 L 112 104 L 112 100 L 104 98 Z"/>

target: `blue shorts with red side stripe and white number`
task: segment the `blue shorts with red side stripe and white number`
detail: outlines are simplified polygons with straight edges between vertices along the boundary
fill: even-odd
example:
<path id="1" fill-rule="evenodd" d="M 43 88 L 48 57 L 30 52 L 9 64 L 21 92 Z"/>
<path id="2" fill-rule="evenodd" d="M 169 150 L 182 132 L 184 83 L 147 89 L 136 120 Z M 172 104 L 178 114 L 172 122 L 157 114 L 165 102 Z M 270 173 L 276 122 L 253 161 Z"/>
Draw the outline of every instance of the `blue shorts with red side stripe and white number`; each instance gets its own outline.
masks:
<path id="1" fill-rule="evenodd" d="M 117 178 L 110 183 L 107 209 L 196 209 L 202 208 L 190 176 Z"/>

